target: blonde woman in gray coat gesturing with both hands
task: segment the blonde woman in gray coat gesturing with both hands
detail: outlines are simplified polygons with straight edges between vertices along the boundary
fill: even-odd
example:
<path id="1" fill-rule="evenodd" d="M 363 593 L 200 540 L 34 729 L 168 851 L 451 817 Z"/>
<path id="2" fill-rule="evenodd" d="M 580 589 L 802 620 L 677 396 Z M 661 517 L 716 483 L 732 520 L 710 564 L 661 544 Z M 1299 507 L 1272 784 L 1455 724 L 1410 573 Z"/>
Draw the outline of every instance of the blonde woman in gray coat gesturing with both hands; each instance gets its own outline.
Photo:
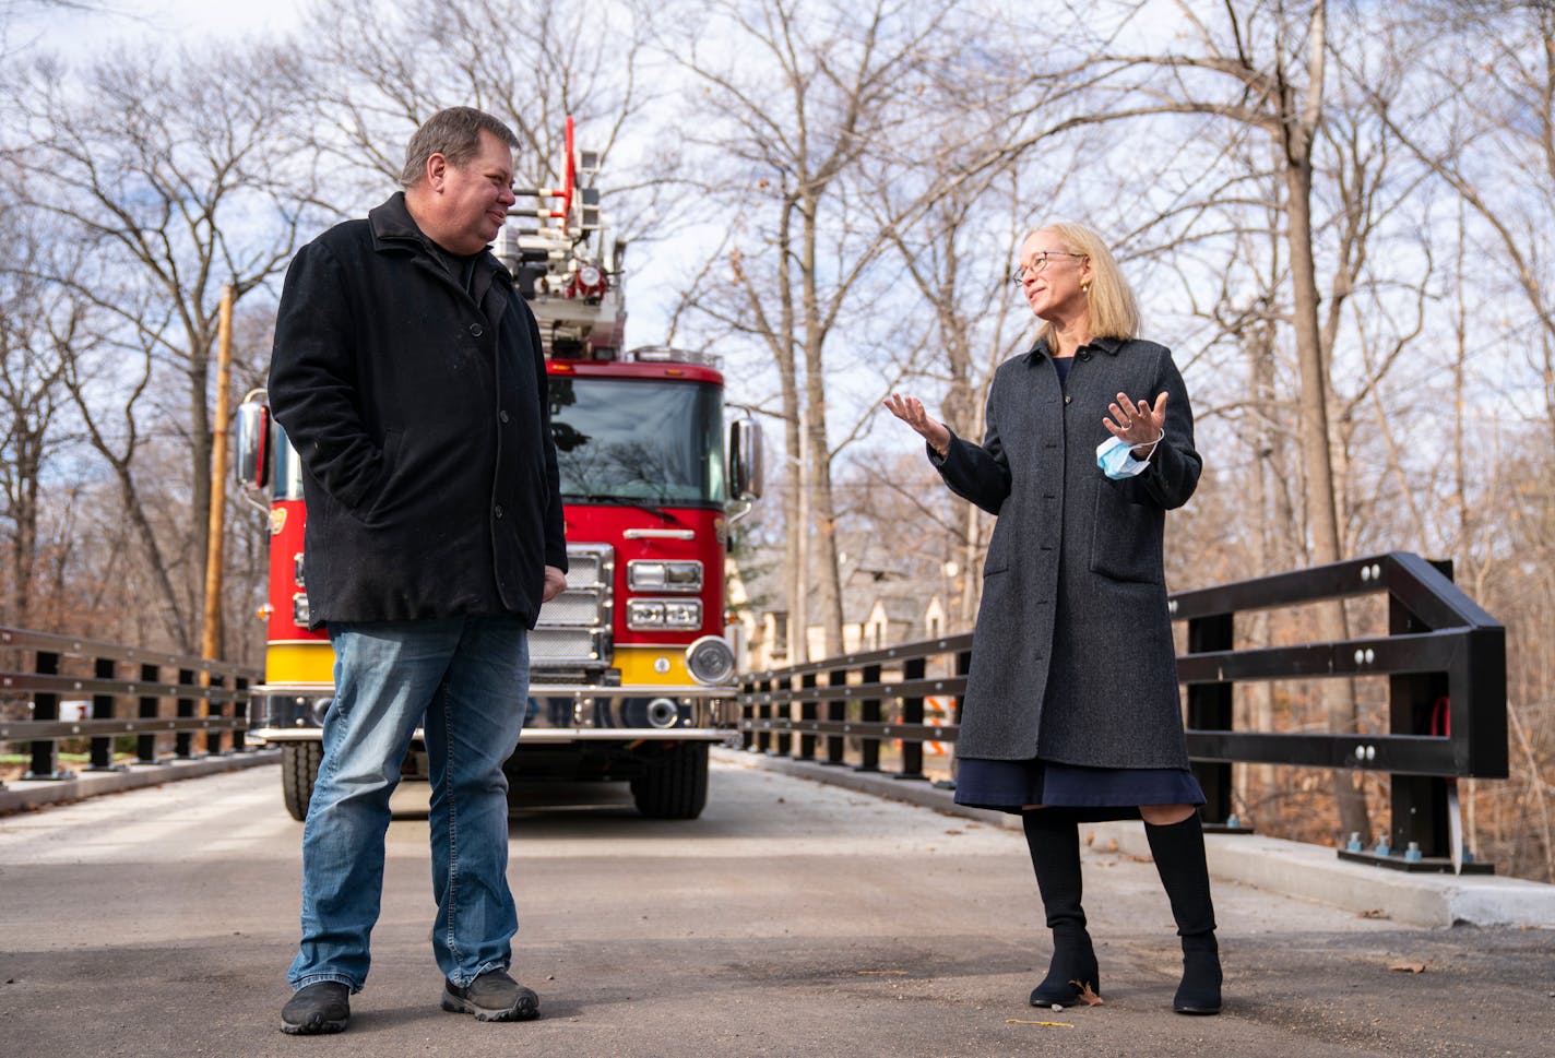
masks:
<path id="1" fill-rule="evenodd" d="M 1042 319 L 1000 366 L 977 445 L 911 397 L 886 408 L 928 442 L 959 496 L 998 515 L 956 741 L 956 801 L 1019 812 L 1053 962 L 1034 1007 L 1099 993 L 1081 909 L 1082 820 L 1143 817 L 1182 937 L 1172 1002 L 1221 1010 L 1214 909 L 1188 770 L 1162 568 L 1165 513 L 1199 482 L 1193 412 L 1171 353 L 1135 338 L 1138 310 L 1106 243 L 1047 224 L 1015 279 Z"/>

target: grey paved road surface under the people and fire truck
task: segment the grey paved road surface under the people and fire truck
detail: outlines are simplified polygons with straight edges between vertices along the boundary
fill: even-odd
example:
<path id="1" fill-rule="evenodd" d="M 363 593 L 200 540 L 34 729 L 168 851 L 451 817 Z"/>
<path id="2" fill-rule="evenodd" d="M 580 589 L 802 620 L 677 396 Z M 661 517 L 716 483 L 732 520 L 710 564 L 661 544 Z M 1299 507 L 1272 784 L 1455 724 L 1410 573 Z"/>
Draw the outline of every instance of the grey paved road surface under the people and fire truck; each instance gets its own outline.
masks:
<path id="1" fill-rule="evenodd" d="M 1225 884 L 1225 1013 L 1182 1018 L 1154 868 L 1092 848 L 1106 1002 L 1037 1011 L 1048 941 L 1014 831 L 728 759 L 697 822 L 577 800 L 512 826 L 540 1021 L 439 1010 L 412 787 L 372 980 L 323 1038 L 278 1032 L 302 826 L 275 767 L 3 817 L 0 1055 L 1555 1053 L 1549 930 L 1400 927 Z"/>

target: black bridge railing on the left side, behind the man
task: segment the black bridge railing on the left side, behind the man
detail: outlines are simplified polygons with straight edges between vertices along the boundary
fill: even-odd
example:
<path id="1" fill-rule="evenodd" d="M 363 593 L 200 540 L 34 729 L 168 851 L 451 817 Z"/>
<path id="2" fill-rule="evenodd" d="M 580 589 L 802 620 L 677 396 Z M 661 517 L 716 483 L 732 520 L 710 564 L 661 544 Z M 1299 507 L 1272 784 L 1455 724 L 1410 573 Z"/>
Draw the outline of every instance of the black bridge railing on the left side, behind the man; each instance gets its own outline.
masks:
<path id="1" fill-rule="evenodd" d="M 132 764 L 168 759 L 159 755 L 159 736 L 168 734 L 177 759 L 244 750 L 249 686 L 260 681 L 258 669 L 3 627 L 0 658 L 6 664 L 0 671 L 0 703 L 9 706 L 0 711 L 0 744 L 30 747 L 25 779 L 75 775 L 59 767 L 62 739 L 90 739 L 89 772 L 126 767 L 114 761 L 114 742 L 123 736 L 135 736 Z M 61 702 L 89 699 L 84 716 L 61 716 Z M 28 711 L 30 719 L 8 719 L 8 711 L 17 709 Z M 229 731 L 230 750 L 224 748 Z M 201 733 L 205 741 L 196 751 L 194 736 Z"/>

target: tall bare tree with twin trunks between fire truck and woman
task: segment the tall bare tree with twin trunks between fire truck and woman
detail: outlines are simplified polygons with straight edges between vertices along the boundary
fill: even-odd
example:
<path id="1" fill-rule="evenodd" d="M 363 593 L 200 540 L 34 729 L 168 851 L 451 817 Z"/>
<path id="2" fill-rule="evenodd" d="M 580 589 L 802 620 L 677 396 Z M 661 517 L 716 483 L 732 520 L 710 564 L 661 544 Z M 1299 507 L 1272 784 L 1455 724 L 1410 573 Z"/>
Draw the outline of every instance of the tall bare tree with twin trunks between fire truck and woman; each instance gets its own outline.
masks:
<path id="1" fill-rule="evenodd" d="M 791 622 L 809 625 L 813 573 L 818 624 L 826 650 L 837 652 L 838 447 L 827 350 L 851 311 L 868 311 L 861 291 L 891 246 L 888 226 L 860 201 L 860 166 L 903 120 L 914 84 L 947 59 L 958 5 L 720 0 L 700 11 L 698 33 L 664 47 L 700 89 L 708 115 L 689 138 L 717 159 L 708 179 L 690 184 L 731 221 L 728 282 L 720 272 L 687 300 L 714 327 L 754 341 L 776 369 L 795 481 L 784 512 Z M 849 347 L 855 363 L 861 352 Z"/>

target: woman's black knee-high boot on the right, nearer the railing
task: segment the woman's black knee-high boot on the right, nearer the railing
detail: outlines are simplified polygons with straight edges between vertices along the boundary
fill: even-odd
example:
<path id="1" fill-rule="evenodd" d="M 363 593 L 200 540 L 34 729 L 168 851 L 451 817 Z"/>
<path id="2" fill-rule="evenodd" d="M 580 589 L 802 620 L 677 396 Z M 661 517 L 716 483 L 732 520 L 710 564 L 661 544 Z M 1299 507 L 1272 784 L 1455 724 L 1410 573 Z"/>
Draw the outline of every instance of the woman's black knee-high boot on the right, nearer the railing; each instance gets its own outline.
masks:
<path id="1" fill-rule="evenodd" d="M 1221 951 L 1214 943 L 1210 868 L 1204 860 L 1204 826 L 1194 812 L 1168 826 L 1144 825 L 1155 870 L 1171 901 L 1182 937 L 1182 983 L 1172 999 L 1179 1014 L 1221 1013 Z"/>

